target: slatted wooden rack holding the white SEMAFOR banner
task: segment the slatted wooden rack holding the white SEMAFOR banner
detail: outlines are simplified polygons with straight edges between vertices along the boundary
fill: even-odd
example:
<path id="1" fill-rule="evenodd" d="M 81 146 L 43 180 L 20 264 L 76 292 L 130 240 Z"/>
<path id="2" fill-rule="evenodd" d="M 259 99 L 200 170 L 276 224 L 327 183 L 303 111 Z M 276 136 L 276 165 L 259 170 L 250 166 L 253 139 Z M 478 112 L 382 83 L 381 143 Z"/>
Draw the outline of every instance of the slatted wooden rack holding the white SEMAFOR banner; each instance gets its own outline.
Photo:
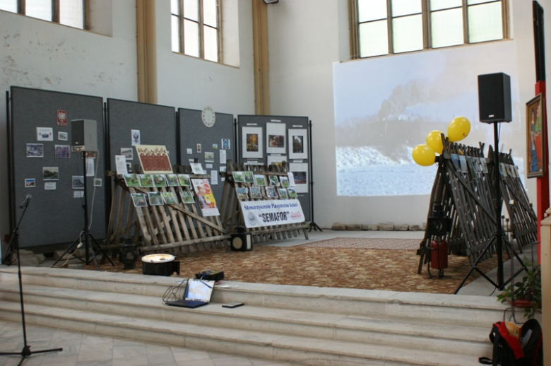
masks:
<path id="1" fill-rule="evenodd" d="M 239 199 L 235 191 L 236 187 L 246 187 L 250 189 L 254 187 L 254 184 L 235 182 L 232 172 L 250 171 L 254 175 L 263 175 L 268 184 L 268 175 L 276 175 L 278 177 L 287 177 L 287 168 L 285 165 L 282 167 L 266 167 L 262 165 L 237 165 L 233 164 L 231 160 L 227 160 L 226 172 L 220 173 L 223 175 L 224 188 L 222 193 L 222 202 L 220 203 L 220 214 L 222 216 L 222 227 L 228 232 L 237 232 L 238 227 L 245 227 L 244 218 L 239 207 Z M 249 201 L 268 201 L 275 198 L 266 196 L 266 191 L 261 190 L 261 199 Z M 282 240 L 290 239 L 291 237 L 297 237 L 302 230 L 304 238 L 308 239 L 307 226 L 304 223 L 301 224 L 288 224 L 288 225 L 273 225 L 265 226 L 261 228 L 250 228 L 253 242 L 268 242 L 270 240 Z"/>

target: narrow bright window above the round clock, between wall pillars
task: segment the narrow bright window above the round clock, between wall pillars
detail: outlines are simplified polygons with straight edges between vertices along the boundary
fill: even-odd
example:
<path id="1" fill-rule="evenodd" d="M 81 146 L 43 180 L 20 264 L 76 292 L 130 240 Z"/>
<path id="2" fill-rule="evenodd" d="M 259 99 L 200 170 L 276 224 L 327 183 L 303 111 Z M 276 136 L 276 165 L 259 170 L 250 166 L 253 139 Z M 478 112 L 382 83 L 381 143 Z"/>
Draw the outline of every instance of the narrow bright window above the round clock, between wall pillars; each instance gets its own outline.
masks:
<path id="1" fill-rule="evenodd" d="M 220 0 L 171 0 L 172 51 L 220 62 Z"/>

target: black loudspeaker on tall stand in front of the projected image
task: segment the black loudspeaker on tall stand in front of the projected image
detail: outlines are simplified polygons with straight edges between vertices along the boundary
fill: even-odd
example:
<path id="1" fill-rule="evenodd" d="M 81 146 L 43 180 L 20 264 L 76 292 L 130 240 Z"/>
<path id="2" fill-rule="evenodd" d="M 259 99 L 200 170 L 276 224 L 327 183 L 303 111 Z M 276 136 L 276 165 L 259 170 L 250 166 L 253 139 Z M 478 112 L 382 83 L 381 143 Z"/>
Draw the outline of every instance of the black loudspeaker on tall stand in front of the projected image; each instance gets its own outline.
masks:
<path id="1" fill-rule="evenodd" d="M 511 77 L 506 73 L 478 76 L 480 122 L 511 122 Z"/>

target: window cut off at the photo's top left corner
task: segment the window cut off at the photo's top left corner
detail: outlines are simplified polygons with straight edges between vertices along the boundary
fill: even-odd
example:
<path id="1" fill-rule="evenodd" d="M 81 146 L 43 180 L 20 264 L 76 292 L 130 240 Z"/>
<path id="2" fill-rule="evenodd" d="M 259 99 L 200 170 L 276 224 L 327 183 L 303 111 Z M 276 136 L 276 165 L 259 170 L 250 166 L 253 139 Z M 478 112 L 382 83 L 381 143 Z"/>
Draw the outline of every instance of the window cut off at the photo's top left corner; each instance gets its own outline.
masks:
<path id="1" fill-rule="evenodd" d="M 85 29 L 88 0 L 0 0 L 0 10 Z"/>

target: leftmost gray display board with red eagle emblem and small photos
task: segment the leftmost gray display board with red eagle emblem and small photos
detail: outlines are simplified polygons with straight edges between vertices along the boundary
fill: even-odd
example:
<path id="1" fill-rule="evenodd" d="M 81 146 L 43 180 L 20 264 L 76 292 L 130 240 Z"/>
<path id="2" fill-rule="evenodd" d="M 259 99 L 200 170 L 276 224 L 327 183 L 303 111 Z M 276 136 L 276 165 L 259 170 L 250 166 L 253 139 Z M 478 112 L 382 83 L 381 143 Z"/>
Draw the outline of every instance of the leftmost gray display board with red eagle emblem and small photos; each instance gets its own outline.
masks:
<path id="1" fill-rule="evenodd" d="M 102 98 L 11 88 L 12 230 L 22 213 L 20 204 L 28 194 L 32 196 L 19 227 L 22 248 L 74 242 L 85 227 L 84 200 L 80 197 L 83 195 L 83 180 L 77 178 L 84 176 L 84 160 L 83 153 L 71 152 L 73 119 L 97 122 L 99 153 L 92 160 L 97 179 L 102 179 L 103 186 Z M 100 240 L 105 237 L 105 191 L 103 187 L 94 187 L 94 177 L 86 177 L 85 181 L 88 212 L 91 213 L 88 217 L 92 225 L 90 232 Z"/>

